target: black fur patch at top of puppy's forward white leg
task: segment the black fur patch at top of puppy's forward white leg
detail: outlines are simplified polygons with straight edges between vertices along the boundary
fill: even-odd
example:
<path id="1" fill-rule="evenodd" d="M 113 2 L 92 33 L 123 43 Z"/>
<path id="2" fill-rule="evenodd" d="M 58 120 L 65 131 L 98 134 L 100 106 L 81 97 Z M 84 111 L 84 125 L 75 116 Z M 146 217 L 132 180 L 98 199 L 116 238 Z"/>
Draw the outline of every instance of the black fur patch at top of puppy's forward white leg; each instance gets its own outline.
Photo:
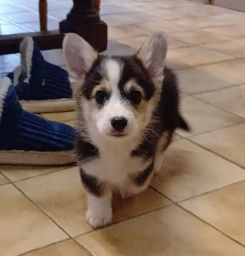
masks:
<path id="1" fill-rule="evenodd" d="M 97 177 L 86 174 L 83 169 L 80 168 L 80 176 L 81 180 L 85 186 L 85 188 L 95 196 L 102 196 L 104 193 L 104 184 L 103 182 L 99 182 Z"/>

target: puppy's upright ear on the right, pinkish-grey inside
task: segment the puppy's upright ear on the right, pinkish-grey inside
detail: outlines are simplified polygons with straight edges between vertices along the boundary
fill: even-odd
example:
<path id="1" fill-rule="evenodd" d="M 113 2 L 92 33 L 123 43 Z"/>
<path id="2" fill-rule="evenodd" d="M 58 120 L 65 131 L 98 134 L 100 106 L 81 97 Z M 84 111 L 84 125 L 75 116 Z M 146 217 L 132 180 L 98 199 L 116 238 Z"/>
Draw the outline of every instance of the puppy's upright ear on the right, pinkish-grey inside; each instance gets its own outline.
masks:
<path id="1" fill-rule="evenodd" d="M 142 45 L 137 54 L 144 67 L 150 74 L 152 81 L 158 82 L 163 79 L 163 68 L 168 44 L 164 33 L 157 31 Z"/>

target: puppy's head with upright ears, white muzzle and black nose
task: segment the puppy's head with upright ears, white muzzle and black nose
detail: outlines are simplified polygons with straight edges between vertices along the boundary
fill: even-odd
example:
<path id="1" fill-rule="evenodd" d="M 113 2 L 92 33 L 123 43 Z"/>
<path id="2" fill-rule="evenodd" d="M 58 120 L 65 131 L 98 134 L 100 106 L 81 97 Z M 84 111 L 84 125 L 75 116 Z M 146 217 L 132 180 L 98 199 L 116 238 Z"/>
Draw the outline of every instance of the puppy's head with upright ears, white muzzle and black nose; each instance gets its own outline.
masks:
<path id="1" fill-rule="evenodd" d="M 148 124 L 163 81 L 167 44 L 154 33 L 134 56 L 100 56 L 78 35 L 63 42 L 70 83 L 89 129 L 129 139 Z"/>

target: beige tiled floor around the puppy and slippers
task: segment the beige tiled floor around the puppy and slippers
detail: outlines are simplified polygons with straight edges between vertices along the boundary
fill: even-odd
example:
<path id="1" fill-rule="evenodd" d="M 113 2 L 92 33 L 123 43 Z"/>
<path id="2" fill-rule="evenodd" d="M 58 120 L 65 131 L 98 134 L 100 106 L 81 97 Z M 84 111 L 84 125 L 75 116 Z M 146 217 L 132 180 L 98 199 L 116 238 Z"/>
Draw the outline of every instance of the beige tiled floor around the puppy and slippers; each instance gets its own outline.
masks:
<path id="1" fill-rule="evenodd" d="M 56 29 L 72 1 L 48 3 Z M 38 30 L 37 10 L 37 0 L 0 0 L 0 34 Z M 114 200 L 113 225 L 100 230 L 84 221 L 76 167 L 0 166 L 0 255 L 244 256 L 245 13 L 201 0 L 102 0 L 101 17 L 109 54 L 166 32 L 192 132 L 177 131 L 162 173 L 141 195 Z M 43 54 L 65 67 L 60 50 Z M 18 62 L 0 56 L 0 76 Z M 42 116 L 74 125 L 74 112 Z"/>

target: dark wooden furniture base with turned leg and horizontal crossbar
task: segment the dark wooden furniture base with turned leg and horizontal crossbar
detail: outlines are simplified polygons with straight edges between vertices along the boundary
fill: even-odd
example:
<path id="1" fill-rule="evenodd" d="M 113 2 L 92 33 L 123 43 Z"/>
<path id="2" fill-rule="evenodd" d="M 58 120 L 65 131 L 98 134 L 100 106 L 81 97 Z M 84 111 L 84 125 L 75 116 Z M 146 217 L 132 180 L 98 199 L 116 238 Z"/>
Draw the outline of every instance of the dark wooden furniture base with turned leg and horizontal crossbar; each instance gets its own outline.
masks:
<path id="1" fill-rule="evenodd" d="M 26 36 L 31 36 L 40 50 L 62 47 L 65 33 L 73 32 L 82 36 L 97 51 L 107 47 L 107 25 L 100 20 L 100 0 L 74 0 L 74 6 L 67 19 L 59 23 L 59 31 L 47 31 L 47 0 L 40 3 L 40 32 L 0 35 L 0 55 L 19 52 L 19 44 Z"/>

